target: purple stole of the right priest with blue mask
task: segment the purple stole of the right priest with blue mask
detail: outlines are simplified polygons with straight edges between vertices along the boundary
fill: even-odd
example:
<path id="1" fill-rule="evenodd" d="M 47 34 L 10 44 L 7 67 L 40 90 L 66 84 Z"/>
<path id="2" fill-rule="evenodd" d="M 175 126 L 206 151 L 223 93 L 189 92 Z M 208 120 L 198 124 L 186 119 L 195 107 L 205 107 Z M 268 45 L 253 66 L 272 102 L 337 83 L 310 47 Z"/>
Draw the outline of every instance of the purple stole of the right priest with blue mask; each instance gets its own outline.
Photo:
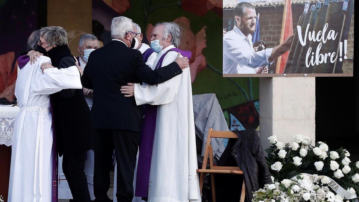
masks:
<path id="1" fill-rule="evenodd" d="M 169 49 L 168 51 L 180 52 L 181 55 L 187 57 L 188 60 L 191 58 L 190 51 L 183 51 L 178 48 Z M 167 55 L 168 51 L 161 56 L 155 69 L 158 69 L 162 66 L 164 56 Z M 145 53 L 146 52 L 144 52 L 144 54 Z M 148 182 L 150 178 L 150 167 L 151 167 L 151 159 L 152 159 L 153 140 L 154 140 L 155 129 L 156 129 L 156 119 L 157 119 L 157 105 L 146 104 L 145 119 L 142 127 L 142 136 L 139 145 L 139 156 L 137 163 L 136 192 L 135 192 L 135 196 L 137 197 L 147 197 L 148 194 Z"/>

